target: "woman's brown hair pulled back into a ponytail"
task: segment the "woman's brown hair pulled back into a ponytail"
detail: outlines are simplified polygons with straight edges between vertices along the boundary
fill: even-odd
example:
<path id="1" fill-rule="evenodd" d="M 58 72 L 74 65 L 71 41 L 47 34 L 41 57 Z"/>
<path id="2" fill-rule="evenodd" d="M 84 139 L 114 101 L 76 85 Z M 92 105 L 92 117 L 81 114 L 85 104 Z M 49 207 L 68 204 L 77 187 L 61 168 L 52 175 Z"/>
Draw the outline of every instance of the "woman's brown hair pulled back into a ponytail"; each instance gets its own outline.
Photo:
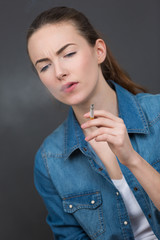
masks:
<path id="1" fill-rule="evenodd" d="M 54 7 L 39 14 L 32 22 L 27 33 L 27 43 L 30 37 L 42 26 L 46 24 L 56 24 L 70 22 L 79 31 L 87 42 L 94 46 L 96 40 L 101 38 L 100 34 L 93 28 L 87 17 L 73 8 Z M 104 62 L 101 64 L 103 76 L 106 80 L 113 80 L 133 94 L 138 92 L 146 92 L 140 85 L 134 83 L 117 63 L 111 51 L 107 46 L 107 55 Z"/>

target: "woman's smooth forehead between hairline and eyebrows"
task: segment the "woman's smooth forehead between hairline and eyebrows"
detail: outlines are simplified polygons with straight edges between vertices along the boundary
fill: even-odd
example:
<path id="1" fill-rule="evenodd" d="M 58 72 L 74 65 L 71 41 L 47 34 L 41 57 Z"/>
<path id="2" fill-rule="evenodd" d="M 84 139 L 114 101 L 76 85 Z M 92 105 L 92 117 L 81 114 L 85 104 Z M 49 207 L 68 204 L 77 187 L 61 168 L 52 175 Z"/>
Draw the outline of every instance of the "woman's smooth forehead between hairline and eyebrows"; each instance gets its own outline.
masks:
<path id="1" fill-rule="evenodd" d="M 46 24 L 38 29 L 28 41 L 29 55 L 33 52 L 47 51 L 52 48 L 55 52 L 69 42 L 81 43 L 85 39 L 72 23 Z"/>

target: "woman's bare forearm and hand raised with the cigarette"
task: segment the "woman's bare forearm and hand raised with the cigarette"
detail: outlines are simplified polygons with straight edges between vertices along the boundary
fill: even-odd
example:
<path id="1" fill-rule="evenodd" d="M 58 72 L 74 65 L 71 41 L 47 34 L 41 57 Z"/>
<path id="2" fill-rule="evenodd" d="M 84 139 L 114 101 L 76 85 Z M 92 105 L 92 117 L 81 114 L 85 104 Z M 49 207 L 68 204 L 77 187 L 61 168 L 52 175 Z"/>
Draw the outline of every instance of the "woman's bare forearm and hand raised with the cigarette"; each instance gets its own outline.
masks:
<path id="1" fill-rule="evenodd" d="M 89 118 L 89 113 L 84 115 Z M 95 111 L 95 119 L 82 124 L 83 129 L 97 127 L 85 140 L 106 141 L 119 161 L 130 169 L 160 211 L 160 174 L 132 147 L 123 120 L 105 111 Z"/>

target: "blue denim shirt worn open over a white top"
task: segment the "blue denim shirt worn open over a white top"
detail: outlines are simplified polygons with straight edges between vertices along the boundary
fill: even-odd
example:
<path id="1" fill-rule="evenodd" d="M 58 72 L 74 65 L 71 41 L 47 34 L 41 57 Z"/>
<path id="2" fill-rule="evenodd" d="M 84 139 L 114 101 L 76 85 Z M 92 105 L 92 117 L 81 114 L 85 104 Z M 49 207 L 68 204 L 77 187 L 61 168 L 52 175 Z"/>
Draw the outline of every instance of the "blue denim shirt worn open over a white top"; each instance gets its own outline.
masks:
<path id="1" fill-rule="evenodd" d="M 133 95 L 110 83 L 133 148 L 160 172 L 160 95 Z M 45 139 L 36 154 L 34 180 L 48 210 L 47 222 L 59 240 L 132 240 L 121 194 L 84 138 L 71 108 L 68 118 Z M 131 171 L 119 165 L 160 239 L 160 212 Z"/>

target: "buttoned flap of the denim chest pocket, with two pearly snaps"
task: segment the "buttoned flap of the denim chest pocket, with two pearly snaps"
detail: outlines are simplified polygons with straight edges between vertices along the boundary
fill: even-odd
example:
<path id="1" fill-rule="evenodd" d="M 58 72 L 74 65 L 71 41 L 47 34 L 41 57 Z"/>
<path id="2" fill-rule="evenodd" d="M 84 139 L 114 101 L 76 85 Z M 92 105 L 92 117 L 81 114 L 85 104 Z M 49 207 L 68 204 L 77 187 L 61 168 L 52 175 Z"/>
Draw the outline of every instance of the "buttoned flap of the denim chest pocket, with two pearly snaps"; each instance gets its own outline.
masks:
<path id="1" fill-rule="evenodd" d="M 83 193 L 63 198 L 63 208 L 67 213 L 74 213 L 78 209 L 96 209 L 102 204 L 100 192 Z"/>

